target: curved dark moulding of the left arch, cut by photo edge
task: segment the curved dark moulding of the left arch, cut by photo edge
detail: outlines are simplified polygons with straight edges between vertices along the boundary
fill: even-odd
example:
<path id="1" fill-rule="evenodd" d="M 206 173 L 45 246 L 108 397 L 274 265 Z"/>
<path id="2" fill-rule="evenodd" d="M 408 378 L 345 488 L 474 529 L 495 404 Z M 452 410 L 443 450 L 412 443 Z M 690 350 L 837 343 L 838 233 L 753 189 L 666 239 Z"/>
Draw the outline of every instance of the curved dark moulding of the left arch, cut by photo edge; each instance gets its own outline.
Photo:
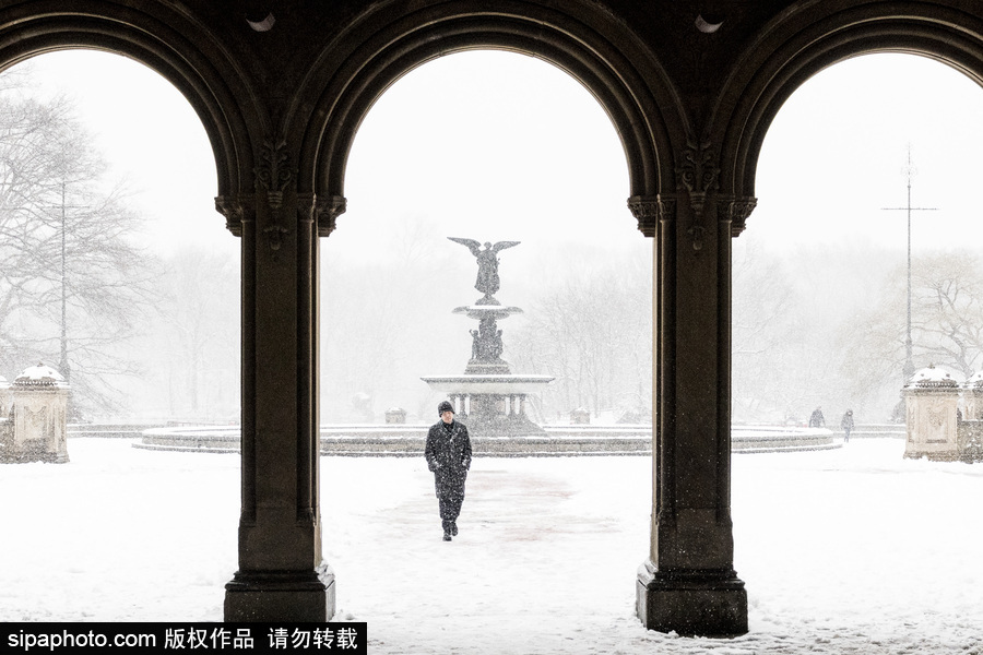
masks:
<path id="1" fill-rule="evenodd" d="M 252 191 L 251 144 L 253 134 L 262 133 L 263 117 L 241 66 L 221 44 L 201 23 L 159 3 L 140 11 L 100 0 L 34 0 L 0 10 L 0 70 L 45 52 L 82 48 L 122 55 L 174 84 L 209 136 L 216 194 L 228 196 Z"/>

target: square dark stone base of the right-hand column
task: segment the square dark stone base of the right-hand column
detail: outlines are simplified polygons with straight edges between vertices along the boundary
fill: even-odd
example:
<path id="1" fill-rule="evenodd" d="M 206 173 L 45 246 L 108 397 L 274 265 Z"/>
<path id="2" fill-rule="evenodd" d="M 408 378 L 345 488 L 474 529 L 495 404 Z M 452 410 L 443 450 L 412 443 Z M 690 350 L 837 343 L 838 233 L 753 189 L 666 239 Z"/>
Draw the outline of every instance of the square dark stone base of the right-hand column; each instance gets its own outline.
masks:
<path id="1" fill-rule="evenodd" d="M 683 636 L 747 633 L 747 592 L 733 571 L 660 573 L 646 562 L 636 593 L 636 612 L 649 630 Z"/>

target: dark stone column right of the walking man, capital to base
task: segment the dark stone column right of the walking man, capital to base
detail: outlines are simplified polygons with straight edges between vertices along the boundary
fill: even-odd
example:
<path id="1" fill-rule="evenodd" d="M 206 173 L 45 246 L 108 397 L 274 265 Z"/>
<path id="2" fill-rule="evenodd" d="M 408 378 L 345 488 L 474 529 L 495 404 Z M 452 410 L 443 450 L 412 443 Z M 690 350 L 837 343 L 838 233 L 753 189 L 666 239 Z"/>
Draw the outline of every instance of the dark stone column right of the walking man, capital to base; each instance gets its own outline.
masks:
<path id="1" fill-rule="evenodd" d="M 737 635 L 747 594 L 731 523 L 731 231 L 754 201 L 713 198 L 699 166 L 683 177 L 678 195 L 629 200 L 654 239 L 654 488 L 637 614 L 663 632 Z"/>

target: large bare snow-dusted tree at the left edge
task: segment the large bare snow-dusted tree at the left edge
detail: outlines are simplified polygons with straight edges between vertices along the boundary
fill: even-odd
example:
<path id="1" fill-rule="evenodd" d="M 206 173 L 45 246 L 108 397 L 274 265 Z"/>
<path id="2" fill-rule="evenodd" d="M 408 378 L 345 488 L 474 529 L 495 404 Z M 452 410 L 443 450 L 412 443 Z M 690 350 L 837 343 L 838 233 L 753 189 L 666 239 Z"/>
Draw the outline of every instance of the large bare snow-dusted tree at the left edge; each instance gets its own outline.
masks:
<path id="1" fill-rule="evenodd" d="M 152 288 L 139 219 L 70 102 L 0 86 L 0 367 L 47 360 L 80 406 L 114 407 L 110 373 L 137 370 L 116 346 Z"/>

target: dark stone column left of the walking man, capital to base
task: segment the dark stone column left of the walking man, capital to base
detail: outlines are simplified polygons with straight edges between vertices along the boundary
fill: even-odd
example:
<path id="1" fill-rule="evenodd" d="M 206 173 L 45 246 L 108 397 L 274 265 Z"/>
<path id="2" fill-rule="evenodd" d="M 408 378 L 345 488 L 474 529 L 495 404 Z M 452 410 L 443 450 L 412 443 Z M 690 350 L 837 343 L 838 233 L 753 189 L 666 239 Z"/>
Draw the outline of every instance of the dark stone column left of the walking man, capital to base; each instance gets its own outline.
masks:
<path id="1" fill-rule="evenodd" d="M 344 200 L 298 194 L 286 144 L 268 142 L 257 192 L 217 199 L 242 253 L 242 510 L 226 621 L 323 622 L 318 429 L 318 236 Z"/>

